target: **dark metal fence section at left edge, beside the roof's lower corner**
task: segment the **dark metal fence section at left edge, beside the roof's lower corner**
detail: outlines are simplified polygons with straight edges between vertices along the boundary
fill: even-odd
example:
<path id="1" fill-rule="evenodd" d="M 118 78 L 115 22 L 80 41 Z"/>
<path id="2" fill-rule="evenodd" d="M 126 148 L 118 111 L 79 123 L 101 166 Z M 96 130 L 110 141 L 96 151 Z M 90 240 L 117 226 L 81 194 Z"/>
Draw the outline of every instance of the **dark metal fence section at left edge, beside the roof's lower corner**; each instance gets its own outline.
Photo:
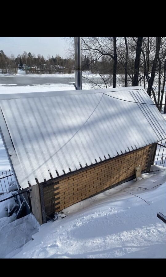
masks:
<path id="1" fill-rule="evenodd" d="M 14 176 L 12 170 L 2 172 L 0 175 L 0 196 L 9 193 L 7 188 L 11 181 L 14 181 Z"/>

